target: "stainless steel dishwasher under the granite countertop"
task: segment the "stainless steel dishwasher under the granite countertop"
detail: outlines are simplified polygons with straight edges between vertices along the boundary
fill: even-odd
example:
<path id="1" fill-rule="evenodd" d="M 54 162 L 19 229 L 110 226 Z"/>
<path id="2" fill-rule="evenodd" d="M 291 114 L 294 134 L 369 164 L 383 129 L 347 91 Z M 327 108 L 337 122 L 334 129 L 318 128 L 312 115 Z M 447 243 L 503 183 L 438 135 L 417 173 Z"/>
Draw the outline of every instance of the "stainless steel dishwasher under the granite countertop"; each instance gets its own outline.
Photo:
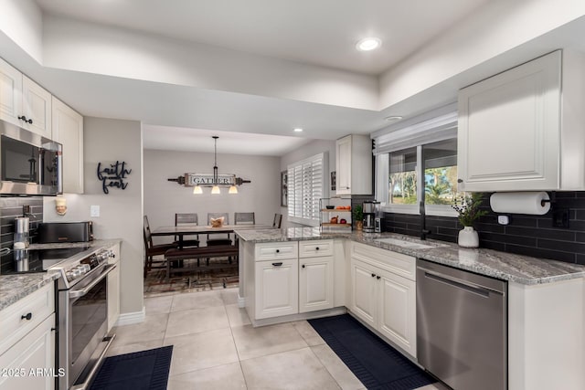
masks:
<path id="1" fill-rule="evenodd" d="M 417 259 L 417 355 L 454 390 L 507 389 L 507 282 Z"/>

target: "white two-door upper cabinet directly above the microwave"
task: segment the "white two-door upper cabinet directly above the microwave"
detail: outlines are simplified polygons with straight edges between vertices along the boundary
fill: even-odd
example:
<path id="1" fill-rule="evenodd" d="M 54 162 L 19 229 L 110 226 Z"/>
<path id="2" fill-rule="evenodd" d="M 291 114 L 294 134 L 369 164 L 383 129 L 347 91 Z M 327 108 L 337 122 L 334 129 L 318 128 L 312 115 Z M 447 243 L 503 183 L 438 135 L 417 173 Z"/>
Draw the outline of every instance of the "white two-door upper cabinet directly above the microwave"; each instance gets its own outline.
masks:
<path id="1" fill-rule="evenodd" d="M 51 94 L 2 59 L 0 119 L 51 138 Z"/>

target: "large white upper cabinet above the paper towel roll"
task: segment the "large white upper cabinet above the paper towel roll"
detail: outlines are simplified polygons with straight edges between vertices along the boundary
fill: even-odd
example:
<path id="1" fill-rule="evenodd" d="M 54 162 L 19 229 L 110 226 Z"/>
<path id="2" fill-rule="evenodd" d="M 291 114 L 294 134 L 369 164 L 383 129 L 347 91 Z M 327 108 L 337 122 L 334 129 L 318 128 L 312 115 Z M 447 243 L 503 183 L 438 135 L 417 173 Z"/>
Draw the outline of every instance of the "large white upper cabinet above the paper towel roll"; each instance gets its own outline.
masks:
<path id="1" fill-rule="evenodd" d="M 460 90 L 460 190 L 585 188 L 583 64 L 555 51 Z"/>

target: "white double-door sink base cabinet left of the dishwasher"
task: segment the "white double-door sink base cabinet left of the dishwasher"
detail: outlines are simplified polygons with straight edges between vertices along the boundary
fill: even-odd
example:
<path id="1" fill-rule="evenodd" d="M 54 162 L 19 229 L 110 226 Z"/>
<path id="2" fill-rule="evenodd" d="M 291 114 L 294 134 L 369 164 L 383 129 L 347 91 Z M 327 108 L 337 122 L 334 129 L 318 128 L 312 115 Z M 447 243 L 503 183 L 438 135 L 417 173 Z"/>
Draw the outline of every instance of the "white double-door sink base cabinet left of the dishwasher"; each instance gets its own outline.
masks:
<path id="1" fill-rule="evenodd" d="M 349 309 L 358 319 L 416 358 L 416 281 L 389 271 L 395 267 L 392 262 L 397 254 L 371 247 L 367 251 L 379 255 L 378 258 L 351 258 Z M 403 261 L 404 255 L 399 256 Z M 415 258 L 410 259 L 414 264 Z"/>

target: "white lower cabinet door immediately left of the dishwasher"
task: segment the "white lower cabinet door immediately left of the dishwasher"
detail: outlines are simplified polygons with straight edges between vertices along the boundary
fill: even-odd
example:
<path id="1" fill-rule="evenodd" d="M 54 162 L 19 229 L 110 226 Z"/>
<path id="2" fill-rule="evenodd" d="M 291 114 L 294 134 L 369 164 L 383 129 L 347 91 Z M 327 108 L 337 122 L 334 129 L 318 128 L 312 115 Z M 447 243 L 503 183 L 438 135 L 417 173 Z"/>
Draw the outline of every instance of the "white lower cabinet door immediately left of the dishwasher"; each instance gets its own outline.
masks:
<path id="1" fill-rule="evenodd" d="M 377 272 L 378 331 L 416 357 L 416 283 L 385 270 Z"/>

